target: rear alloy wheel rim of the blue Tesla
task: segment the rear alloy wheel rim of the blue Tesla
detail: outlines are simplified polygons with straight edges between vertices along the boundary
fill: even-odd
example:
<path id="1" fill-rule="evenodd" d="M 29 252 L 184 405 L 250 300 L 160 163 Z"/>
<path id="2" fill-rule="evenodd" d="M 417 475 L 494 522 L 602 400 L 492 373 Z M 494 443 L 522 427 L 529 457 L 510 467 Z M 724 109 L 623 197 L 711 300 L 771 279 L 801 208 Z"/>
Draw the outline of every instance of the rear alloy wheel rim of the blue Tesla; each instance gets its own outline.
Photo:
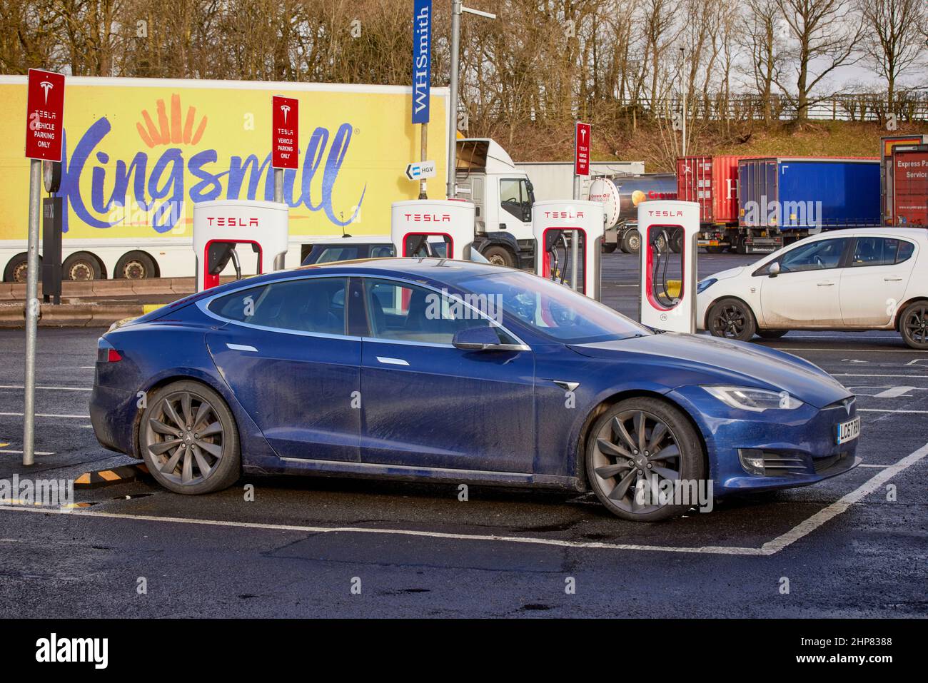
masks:
<path id="1" fill-rule="evenodd" d="M 145 447 L 161 475 L 185 486 L 201 483 L 213 473 L 225 443 L 218 414 L 195 393 L 164 396 L 146 425 Z"/>

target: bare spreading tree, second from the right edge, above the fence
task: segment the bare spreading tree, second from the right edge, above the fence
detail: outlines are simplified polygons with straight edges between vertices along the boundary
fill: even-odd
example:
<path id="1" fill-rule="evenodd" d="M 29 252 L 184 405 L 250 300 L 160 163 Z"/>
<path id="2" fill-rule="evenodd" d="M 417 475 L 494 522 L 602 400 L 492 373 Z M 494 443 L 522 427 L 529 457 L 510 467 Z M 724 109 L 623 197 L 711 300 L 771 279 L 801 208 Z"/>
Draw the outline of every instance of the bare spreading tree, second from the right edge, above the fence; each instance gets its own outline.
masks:
<path id="1" fill-rule="evenodd" d="M 857 61 L 855 45 L 863 22 L 846 0 L 776 0 L 780 19 L 795 45 L 788 59 L 795 73 L 796 119 L 806 121 L 809 107 L 820 98 L 813 96 L 819 84 L 844 64 Z M 777 84 L 790 92 L 787 84 Z"/>

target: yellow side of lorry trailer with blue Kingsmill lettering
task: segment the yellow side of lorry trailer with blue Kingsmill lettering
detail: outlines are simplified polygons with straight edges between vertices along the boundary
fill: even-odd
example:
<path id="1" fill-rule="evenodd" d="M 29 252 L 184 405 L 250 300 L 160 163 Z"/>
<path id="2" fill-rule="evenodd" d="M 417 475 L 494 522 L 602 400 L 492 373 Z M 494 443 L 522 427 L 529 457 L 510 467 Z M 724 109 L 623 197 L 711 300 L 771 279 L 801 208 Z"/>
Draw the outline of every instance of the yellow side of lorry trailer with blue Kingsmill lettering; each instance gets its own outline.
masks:
<path id="1" fill-rule="evenodd" d="M 408 87 L 70 77 L 66 88 L 58 192 L 66 241 L 190 238 L 196 202 L 273 200 L 272 95 L 301 100 L 300 168 L 284 172 L 292 236 L 357 223 L 374 234 L 390 225 L 393 201 L 418 196 L 404 174 L 419 140 Z M 0 240 L 26 238 L 26 97 L 25 76 L 0 76 Z M 446 98 L 432 88 L 443 125 Z M 445 135 L 434 140 L 444 160 Z M 429 183 L 430 193 L 444 191 Z"/>

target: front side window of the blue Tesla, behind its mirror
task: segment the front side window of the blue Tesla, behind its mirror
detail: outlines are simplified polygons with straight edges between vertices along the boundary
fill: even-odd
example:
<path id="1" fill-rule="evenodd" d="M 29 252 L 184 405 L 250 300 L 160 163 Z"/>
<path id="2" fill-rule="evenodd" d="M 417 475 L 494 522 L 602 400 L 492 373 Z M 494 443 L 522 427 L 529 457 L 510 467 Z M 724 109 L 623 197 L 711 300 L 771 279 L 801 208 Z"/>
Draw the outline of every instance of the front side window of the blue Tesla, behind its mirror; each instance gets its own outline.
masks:
<path id="1" fill-rule="evenodd" d="M 470 302 L 480 313 L 454 295 L 393 280 L 365 280 L 367 319 L 374 339 L 396 342 L 450 344 L 461 329 L 494 327 L 501 343 L 519 343 L 481 313 L 490 306 Z M 499 311 L 498 315 L 502 315 Z"/>

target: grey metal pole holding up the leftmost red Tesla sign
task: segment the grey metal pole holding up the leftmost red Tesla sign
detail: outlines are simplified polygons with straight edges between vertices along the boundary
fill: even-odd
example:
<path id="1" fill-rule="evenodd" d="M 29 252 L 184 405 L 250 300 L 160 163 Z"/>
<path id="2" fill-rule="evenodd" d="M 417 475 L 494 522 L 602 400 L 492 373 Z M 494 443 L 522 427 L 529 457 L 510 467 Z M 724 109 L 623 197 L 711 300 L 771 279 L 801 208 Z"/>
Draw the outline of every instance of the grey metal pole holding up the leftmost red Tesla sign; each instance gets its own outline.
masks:
<path id="1" fill-rule="evenodd" d="M 42 161 L 29 168 L 29 246 L 26 274 L 26 380 L 22 406 L 22 464 L 35 462 L 35 337 L 39 326 L 39 204 Z"/>

